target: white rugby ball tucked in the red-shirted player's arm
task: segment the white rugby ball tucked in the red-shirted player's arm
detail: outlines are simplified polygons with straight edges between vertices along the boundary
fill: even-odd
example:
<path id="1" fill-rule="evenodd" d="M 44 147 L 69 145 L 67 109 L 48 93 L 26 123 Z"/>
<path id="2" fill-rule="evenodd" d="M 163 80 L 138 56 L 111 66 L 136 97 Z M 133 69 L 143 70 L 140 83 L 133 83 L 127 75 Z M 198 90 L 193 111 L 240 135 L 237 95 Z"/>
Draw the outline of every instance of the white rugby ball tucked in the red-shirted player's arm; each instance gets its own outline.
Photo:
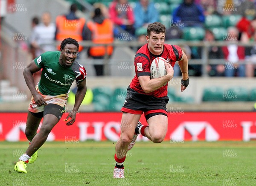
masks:
<path id="1" fill-rule="evenodd" d="M 151 66 L 150 66 L 151 79 L 160 78 L 167 74 L 166 67 L 164 66 L 165 61 L 166 60 L 161 57 L 157 57 L 152 61 Z"/>

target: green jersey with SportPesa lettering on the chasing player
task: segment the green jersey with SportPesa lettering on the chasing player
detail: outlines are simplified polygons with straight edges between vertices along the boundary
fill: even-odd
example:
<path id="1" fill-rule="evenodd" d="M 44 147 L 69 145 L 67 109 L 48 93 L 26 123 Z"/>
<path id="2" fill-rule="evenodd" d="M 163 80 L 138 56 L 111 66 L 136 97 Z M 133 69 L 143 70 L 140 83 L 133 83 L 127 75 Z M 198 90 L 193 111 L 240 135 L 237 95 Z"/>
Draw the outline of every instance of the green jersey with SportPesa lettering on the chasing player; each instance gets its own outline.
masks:
<path id="1" fill-rule="evenodd" d="M 71 67 L 59 64 L 61 52 L 45 52 L 35 58 L 35 64 L 42 69 L 38 88 L 43 95 L 56 96 L 69 92 L 73 81 L 86 78 L 85 68 L 74 61 Z"/>

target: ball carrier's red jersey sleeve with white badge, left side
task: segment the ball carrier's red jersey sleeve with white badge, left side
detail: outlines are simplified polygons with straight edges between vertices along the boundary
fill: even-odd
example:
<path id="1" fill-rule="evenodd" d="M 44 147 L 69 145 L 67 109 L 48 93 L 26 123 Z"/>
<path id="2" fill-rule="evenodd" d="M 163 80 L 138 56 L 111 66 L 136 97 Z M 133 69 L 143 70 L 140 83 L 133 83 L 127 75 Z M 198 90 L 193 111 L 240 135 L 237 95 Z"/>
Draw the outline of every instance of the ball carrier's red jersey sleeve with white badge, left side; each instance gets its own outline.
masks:
<path id="1" fill-rule="evenodd" d="M 137 53 L 134 58 L 135 72 L 137 76 L 150 76 L 150 62 L 147 55 Z"/>

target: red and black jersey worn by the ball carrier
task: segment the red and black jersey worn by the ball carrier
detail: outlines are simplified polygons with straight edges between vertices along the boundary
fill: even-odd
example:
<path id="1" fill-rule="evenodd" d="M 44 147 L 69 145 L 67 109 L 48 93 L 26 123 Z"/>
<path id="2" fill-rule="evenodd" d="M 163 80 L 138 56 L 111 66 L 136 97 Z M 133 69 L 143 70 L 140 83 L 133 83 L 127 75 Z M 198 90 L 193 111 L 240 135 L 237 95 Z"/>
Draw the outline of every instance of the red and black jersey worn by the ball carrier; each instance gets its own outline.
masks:
<path id="1" fill-rule="evenodd" d="M 148 44 L 143 45 L 136 53 L 134 57 L 134 65 L 135 65 L 135 76 L 130 83 L 130 87 L 138 93 L 147 94 L 154 97 L 163 97 L 167 96 L 167 86 L 154 90 L 151 93 L 145 93 L 140 85 L 140 81 L 138 79 L 139 76 L 150 76 L 150 66 L 152 61 L 157 58 L 164 58 L 169 64 L 174 67 L 176 61 L 180 61 L 182 58 L 182 49 L 176 45 L 164 44 L 163 52 L 160 55 L 152 54 L 148 49 Z"/>

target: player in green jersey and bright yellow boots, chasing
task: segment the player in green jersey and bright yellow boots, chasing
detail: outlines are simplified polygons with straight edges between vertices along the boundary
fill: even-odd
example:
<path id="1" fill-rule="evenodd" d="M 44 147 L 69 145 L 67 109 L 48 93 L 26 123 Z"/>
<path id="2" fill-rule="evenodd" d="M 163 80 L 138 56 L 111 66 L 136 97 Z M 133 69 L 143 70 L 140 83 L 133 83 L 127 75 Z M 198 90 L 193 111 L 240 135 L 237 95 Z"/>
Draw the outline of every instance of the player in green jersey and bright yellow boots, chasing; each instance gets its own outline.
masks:
<path id="1" fill-rule="evenodd" d="M 78 49 L 79 44 L 75 39 L 66 38 L 61 43 L 60 51 L 41 54 L 24 70 L 26 84 L 32 93 L 25 130 L 30 145 L 25 154 L 20 156 L 15 171 L 27 173 L 26 163 L 34 163 L 38 149 L 65 112 L 69 89 L 76 80 L 78 89 L 74 108 L 65 119 L 66 125 L 73 125 L 75 122 L 76 113 L 87 90 L 86 70 L 76 61 Z M 41 80 L 35 87 L 33 73 L 39 70 L 42 70 Z M 44 120 L 37 133 L 42 118 Z"/>

